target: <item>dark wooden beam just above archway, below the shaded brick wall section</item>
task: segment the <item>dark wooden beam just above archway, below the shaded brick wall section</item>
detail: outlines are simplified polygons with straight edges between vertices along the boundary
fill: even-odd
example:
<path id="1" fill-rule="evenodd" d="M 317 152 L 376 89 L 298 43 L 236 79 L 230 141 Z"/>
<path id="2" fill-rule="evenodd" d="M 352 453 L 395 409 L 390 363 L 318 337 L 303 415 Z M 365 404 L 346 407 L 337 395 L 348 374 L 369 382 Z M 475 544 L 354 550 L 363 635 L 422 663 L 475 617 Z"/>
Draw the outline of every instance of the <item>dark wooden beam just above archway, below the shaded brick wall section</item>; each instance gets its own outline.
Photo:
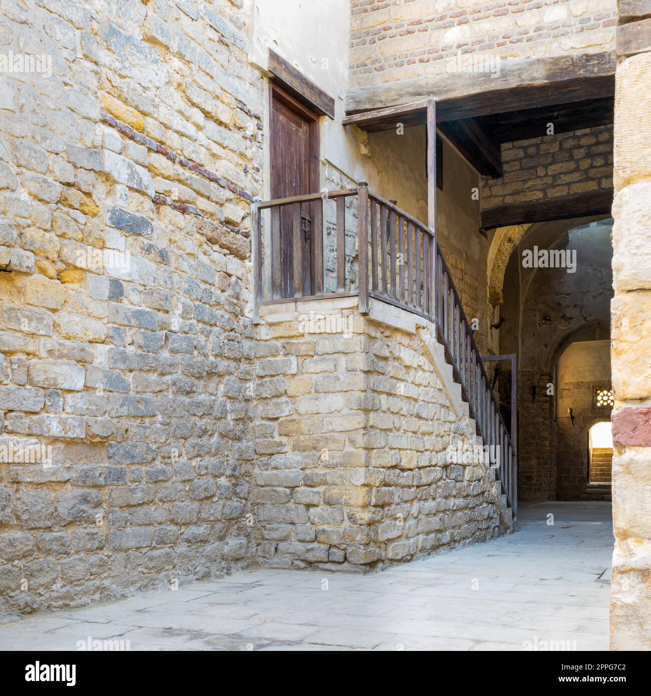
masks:
<path id="1" fill-rule="evenodd" d="M 576 193 L 574 196 L 559 196 L 531 203 L 510 203 L 483 210 L 481 227 L 483 230 L 494 230 L 509 225 L 610 215 L 612 205 L 613 189 Z"/>

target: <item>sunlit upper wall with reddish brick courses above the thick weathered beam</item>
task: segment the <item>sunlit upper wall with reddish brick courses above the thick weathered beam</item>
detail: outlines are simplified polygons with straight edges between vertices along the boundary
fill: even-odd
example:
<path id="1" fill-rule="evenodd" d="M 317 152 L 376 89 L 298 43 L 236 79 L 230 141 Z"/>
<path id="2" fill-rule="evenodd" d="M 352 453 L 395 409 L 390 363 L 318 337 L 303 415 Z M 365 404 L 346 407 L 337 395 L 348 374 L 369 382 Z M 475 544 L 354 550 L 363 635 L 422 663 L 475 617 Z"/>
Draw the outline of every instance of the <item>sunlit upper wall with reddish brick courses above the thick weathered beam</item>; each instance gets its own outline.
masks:
<path id="1" fill-rule="evenodd" d="M 448 58 L 502 60 L 613 49 L 615 0 L 352 0 L 350 87 L 448 70 Z"/>

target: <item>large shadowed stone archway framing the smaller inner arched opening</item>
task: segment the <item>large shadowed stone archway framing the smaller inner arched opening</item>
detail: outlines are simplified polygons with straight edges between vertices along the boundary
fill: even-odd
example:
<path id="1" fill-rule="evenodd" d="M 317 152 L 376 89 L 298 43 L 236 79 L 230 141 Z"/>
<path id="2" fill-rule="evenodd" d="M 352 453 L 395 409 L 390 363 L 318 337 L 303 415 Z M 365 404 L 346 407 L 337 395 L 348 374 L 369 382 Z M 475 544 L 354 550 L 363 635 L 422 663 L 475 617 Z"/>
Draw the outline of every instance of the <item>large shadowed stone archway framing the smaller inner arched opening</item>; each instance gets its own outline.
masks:
<path id="1" fill-rule="evenodd" d="M 499 313 L 505 317 L 493 333 L 494 350 L 515 353 L 519 361 L 521 500 L 556 500 L 562 488 L 557 478 L 556 361 L 576 340 L 609 338 L 610 233 L 611 221 L 583 218 L 511 229 L 494 240 L 489 282 L 494 299 L 502 303 Z M 563 267 L 524 267 L 521 251 L 535 246 L 548 251 L 575 249 L 574 272 Z M 507 261 L 501 255 L 508 248 L 512 251 Z M 585 483 L 581 480 L 580 486 Z M 572 484 L 562 498 L 576 499 L 584 492 Z"/>

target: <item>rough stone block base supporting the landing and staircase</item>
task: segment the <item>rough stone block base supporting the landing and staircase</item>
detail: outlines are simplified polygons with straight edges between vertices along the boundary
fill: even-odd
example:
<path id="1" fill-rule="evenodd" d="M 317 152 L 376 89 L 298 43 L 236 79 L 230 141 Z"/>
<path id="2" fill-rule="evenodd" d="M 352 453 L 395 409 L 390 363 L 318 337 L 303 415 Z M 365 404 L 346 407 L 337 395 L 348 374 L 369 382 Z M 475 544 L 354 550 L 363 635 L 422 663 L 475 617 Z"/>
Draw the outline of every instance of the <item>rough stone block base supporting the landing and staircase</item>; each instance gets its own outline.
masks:
<path id="1" fill-rule="evenodd" d="M 338 305 L 288 303 L 257 330 L 260 564 L 375 569 L 503 533 L 489 475 L 446 461 L 469 426 L 421 339 Z"/>

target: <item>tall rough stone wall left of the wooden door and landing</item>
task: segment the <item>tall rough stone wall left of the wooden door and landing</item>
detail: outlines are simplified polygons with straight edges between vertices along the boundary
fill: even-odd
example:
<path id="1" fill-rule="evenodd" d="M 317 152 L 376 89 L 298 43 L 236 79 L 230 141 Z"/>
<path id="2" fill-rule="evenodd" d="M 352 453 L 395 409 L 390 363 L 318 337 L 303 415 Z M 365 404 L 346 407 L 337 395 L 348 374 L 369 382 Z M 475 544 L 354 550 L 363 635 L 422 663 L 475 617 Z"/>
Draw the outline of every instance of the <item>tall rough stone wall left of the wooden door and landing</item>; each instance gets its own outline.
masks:
<path id="1" fill-rule="evenodd" d="M 1 3 L 0 51 L 52 56 L 1 86 L 2 612 L 253 555 L 262 78 L 241 5 Z"/>

